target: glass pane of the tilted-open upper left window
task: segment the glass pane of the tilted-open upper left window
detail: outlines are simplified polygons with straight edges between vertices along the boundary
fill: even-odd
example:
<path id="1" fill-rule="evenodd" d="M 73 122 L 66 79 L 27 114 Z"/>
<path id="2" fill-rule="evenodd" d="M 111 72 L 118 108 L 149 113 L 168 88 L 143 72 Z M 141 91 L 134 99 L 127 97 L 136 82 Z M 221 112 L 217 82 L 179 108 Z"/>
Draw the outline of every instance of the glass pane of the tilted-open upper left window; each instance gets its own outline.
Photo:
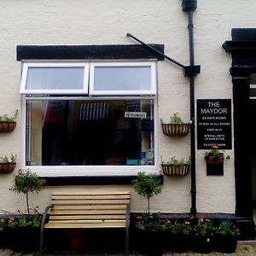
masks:
<path id="1" fill-rule="evenodd" d="M 84 67 L 29 67 L 26 90 L 81 90 Z"/>

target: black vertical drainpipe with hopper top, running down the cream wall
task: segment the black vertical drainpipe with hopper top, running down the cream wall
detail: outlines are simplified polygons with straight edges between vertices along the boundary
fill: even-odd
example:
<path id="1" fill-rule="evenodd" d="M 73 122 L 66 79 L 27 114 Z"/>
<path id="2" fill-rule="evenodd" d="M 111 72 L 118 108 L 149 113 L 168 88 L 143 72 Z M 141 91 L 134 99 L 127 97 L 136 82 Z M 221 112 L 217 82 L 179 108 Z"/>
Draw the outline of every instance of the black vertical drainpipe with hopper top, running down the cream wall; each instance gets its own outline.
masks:
<path id="1" fill-rule="evenodd" d="M 188 13 L 189 20 L 189 61 L 190 67 L 195 67 L 195 50 L 194 50 L 194 24 L 193 12 L 197 8 L 197 0 L 183 0 L 182 8 Z M 190 89 L 190 154 L 191 154 L 191 208 L 190 214 L 196 214 L 196 178 L 195 178 L 195 73 L 189 75 Z"/>

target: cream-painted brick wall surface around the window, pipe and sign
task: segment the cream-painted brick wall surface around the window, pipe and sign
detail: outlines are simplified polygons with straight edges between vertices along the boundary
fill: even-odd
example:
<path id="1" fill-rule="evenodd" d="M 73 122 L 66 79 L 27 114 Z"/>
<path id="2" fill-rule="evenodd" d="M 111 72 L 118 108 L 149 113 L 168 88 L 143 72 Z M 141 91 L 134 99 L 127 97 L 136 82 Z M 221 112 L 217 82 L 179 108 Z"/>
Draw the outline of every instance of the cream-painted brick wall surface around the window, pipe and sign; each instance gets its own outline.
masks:
<path id="1" fill-rule="evenodd" d="M 20 72 L 16 61 L 17 44 L 136 44 L 126 38 L 126 32 L 147 43 L 165 44 L 165 53 L 189 65 L 187 15 L 179 0 L 1 0 L 0 1 L 0 115 L 21 110 Z M 201 74 L 195 79 L 195 98 L 232 98 L 229 73 L 231 56 L 222 44 L 230 40 L 231 28 L 253 27 L 256 3 L 254 0 L 198 1 L 195 11 L 195 63 Z M 178 112 L 189 120 L 189 79 L 168 61 L 158 65 L 158 120 L 169 119 Z M 160 130 L 159 156 L 189 156 L 189 137 L 166 137 Z M 22 150 L 21 114 L 14 132 L 0 134 L 0 155 L 17 154 L 19 170 Z M 207 176 L 204 150 L 196 150 L 196 183 L 198 212 L 235 212 L 235 177 L 233 151 L 231 160 L 224 163 L 224 176 Z M 159 166 L 160 168 L 160 166 Z M 9 191 L 14 174 L 0 175 L 0 212 L 25 209 L 25 197 Z M 79 186 L 70 189 L 129 189 L 131 211 L 144 211 L 147 201 L 137 195 L 131 185 Z M 54 189 L 46 187 L 32 195 L 32 206 L 40 209 L 49 204 Z M 163 192 L 151 202 L 154 212 L 189 212 L 190 175 L 165 177 Z"/>

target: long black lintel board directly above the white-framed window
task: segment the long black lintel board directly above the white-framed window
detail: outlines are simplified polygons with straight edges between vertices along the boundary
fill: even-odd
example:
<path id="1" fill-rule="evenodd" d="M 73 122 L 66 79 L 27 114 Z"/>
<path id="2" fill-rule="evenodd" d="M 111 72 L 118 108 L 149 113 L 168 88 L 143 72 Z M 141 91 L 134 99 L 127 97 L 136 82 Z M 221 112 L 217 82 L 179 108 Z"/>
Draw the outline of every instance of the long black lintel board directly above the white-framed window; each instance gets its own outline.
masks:
<path id="1" fill-rule="evenodd" d="M 149 44 L 164 53 L 164 44 Z M 162 55 L 139 44 L 111 45 L 17 45 L 17 61 L 22 60 L 136 60 L 157 59 Z"/>

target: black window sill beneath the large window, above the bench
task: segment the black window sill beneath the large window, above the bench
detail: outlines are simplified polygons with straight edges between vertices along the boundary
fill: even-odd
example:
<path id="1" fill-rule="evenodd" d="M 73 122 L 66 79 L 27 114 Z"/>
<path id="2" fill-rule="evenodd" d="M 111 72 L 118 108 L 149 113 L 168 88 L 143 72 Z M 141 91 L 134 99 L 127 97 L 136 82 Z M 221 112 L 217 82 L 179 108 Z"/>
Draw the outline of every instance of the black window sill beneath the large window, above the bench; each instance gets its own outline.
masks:
<path id="1" fill-rule="evenodd" d="M 163 183 L 163 175 L 160 174 L 160 182 Z M 110 185 L 131 184 L 137 175 L 131 176 L 65 176 L 65 177 L 42 177 L 46 186 L 64 185 Z"/>

